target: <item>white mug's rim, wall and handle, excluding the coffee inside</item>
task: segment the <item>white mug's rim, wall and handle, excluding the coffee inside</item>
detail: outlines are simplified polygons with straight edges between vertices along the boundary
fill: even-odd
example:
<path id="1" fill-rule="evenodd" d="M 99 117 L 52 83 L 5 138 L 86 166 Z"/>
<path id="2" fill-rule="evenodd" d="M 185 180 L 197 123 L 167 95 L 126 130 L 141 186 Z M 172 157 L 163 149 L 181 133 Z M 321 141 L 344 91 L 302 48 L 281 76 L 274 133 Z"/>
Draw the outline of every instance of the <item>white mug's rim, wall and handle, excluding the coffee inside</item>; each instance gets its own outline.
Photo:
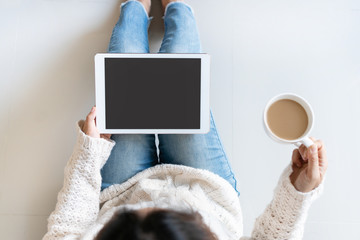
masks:
<path id="1" fill-rule="evenodd" d="M 276 134 L 274 134 L 271 131 L 271 129 L 268 125 L 267 112 L 269 110 L 269 107 L 274 102 L 283 100 L 283 99 L 293 100 L 293 101 L 297 102 L 298 104 L 300 104 L 305 109 L 305 112 L 308 117 L 308 126 L 307 126 L 304 134 L 301 137 L 294 139 L 294 140 L 288 140 L 288 139 L 283 139 L 283 138 L 278 137 Z M 269 135 L 269 137 L 277 142 L 292 143 L 292 144 L 295 144 L 297 147 L 300 147 L 301 144 L 304 144 L 306 147 L 310 147 L 311 145 L 314 144 L 314 142 L 309 138 L 309 133 L 312 130 L 313 126 L 314 126 L 314 112 L 313 112 L 310 104 L 304 98 L 302 98 L 296 94 L 282 93 L 282 94 L 279 94 L 279 95 L 273 97 L 272 99 L 270 99 L 270 101 L 266 104 L 266 107 L 264 110 L 264 128 L 265 128 L 266 133 Z"/>

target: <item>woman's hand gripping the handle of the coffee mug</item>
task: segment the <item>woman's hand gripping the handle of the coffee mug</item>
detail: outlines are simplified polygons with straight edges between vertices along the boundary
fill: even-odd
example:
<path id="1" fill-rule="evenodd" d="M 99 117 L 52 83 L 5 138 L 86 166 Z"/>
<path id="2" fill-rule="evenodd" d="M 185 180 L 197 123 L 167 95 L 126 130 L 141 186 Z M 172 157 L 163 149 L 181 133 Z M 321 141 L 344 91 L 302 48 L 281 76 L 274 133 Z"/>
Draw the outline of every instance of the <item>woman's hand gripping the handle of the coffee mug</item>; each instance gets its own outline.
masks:
<path id="1" fill-rule="evenodd" d="M 301 145 L 292 155 L 291 183 L 300 192 L 310 192 L 322 182 L 328 161 L 322 141 L 311 138 L 314 144 L 309 148 Z"/>

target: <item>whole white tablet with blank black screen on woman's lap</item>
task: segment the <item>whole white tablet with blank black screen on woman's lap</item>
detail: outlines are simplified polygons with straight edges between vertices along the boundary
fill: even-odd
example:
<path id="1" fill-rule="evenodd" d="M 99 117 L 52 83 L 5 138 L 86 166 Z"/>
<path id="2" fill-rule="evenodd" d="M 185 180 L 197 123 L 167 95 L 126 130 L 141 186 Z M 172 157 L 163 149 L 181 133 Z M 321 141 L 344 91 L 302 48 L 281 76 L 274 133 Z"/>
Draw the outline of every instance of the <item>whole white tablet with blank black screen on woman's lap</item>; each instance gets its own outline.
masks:
<path id="1" fill-rule="evenodd" d="M 96 54 L 95 90 L 101 133 L 209 131 L 208 54 Z"/>

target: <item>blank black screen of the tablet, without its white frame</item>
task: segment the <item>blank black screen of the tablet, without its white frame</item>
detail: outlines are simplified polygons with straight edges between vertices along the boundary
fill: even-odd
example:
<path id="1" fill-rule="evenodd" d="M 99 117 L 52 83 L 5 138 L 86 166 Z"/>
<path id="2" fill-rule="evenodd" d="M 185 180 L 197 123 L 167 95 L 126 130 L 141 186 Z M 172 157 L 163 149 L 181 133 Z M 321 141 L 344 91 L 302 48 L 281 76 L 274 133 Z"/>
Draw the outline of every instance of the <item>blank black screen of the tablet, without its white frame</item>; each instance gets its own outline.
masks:
<path id="1" fill-rule="evenodd" d="M 105 58 L 107 129 L 200 129 L 201 60 Z"/>

